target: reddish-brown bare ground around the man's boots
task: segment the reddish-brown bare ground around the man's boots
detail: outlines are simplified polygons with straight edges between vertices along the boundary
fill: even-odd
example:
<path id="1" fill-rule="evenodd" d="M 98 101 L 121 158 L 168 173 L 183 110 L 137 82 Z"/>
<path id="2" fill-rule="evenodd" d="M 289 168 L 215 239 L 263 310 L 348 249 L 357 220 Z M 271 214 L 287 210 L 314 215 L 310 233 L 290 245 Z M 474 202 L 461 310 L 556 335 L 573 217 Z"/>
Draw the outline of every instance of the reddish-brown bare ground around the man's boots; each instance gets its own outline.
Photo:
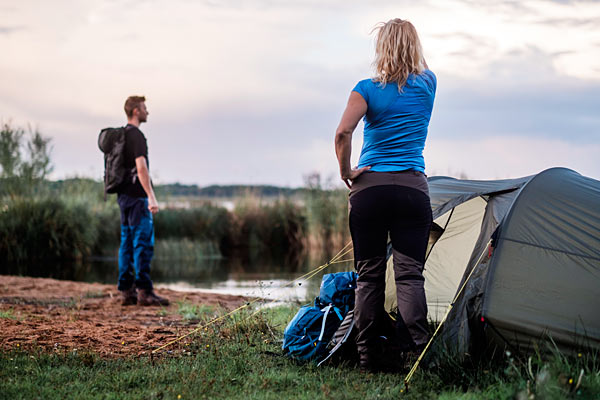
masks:
<path id="1" fill-rule="evenodd" d="M 214 293 L 156 293 L 171 304 L 125 307 L 114 285 L 0 275 L 0 349 L 148 355 L 197 327 L 177 313 L 177 302 L 231 310 L 247 301 Z"/>

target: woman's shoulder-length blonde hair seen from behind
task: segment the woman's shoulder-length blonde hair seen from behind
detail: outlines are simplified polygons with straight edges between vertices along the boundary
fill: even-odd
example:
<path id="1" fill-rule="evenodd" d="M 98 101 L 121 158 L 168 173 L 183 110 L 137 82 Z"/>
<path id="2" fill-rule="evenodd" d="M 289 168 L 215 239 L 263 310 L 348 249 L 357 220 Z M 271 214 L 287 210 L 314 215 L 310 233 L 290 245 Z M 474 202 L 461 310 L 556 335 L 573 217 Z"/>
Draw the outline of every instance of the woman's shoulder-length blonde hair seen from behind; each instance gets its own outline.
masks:
<path id="1" fill-rule="evenodd" d="M 395 18 L 376 26 L 375 82 L 385 86 L 396 82 L 398 90 L 406 83 L 410 74 L 421 74 L 425 70 L 423 48 L 417 30 L 410 22 Z"/>

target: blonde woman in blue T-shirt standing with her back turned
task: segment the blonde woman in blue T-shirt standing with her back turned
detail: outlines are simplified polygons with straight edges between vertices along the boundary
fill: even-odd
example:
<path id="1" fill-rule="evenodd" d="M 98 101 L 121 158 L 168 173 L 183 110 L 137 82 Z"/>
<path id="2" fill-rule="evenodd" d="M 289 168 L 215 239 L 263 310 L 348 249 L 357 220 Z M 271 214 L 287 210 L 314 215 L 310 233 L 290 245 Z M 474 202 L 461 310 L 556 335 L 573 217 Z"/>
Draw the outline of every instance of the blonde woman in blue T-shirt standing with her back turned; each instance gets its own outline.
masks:
<path id="1" fill-rule="evenodd" d="M 417 31 L 405 20 L 393 19 L 377 28 L 374 66 L 375 77 L 360 81 L 350 94 L 335 136 L 341 178 L 350 188 L 350 232 L 358 271 L 354 315 L 364 370 L 382 368 L 386 352 L 381 332 L 386 322 L 388 235 L 401 350 L 418 350 L 427 342 L 423 265 L 431 206 L 423 148 L 437 84 Z M 352 133 L 363 117 L 363 147 L 358 167 L 351 169 Z"/>

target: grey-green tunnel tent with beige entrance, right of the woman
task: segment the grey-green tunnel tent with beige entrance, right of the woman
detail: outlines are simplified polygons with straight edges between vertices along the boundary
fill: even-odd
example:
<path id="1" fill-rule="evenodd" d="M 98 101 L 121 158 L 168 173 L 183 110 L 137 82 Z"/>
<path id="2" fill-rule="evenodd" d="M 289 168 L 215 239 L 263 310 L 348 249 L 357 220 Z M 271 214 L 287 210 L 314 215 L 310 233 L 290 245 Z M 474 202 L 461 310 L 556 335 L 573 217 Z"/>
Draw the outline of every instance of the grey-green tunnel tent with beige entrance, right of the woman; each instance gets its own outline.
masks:
<path id="1" fill-rule="evenodd" d="M 600 347 L 600 181 L 552 168 L 496 181 L 432 177 L 429 189 L 431 319 L 466 280 L 440 341 L 462 354 L 476 343 L 528 350 L 548 337 L 562 349 Z M 388 311 L 391 267 L 390 257 Z"/>

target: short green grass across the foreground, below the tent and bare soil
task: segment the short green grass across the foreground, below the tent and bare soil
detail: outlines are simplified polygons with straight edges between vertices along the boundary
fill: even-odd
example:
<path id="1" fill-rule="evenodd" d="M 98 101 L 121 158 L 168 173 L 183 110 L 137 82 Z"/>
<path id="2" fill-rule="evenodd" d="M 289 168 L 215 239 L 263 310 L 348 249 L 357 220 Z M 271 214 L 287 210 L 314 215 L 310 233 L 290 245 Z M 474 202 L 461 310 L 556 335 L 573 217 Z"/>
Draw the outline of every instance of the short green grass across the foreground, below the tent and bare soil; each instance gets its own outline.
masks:
<path id="1" fill-rule="evenodd" d="M 185 308 L 185 307 L 182 307 Z M 0 353 L 0 397 L 78 399 L 594 399 L 597 354 L 538 353 L 528 360 L 463 366 L 441 357 L 415 374 L 363 374 L 281 356 L 281 334 L 296 309 L 235 314 L 150 358 L 102 359 L 14 349 Z M 583 375 L 579 379 L 580 371 Z M 180 397 L 179 397 L 180 396 Z"/>

